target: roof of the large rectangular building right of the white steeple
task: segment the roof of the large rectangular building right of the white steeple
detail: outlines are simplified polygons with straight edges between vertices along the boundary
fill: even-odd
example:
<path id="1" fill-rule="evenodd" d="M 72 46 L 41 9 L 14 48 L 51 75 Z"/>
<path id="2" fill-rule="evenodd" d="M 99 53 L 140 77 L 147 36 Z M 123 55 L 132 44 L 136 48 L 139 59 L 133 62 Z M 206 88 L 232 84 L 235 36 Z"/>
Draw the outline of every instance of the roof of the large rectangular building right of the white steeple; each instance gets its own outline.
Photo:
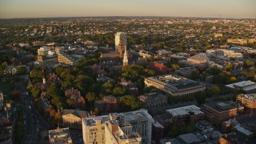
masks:
<path id="1" fill-rule="evenodd" d="M 182 89 L 187 89 L 187 88 L 193 88 L 196 86 L 202 86 L 202 84 L 199 82 L 193 81 L 188 78 L 183 78 L 176 74 L 149 77 L 146 79 L 149 79 L 153 82 L 157 82 L 163 86 L 170 88 L 171 90 L 182 90 Z"/>

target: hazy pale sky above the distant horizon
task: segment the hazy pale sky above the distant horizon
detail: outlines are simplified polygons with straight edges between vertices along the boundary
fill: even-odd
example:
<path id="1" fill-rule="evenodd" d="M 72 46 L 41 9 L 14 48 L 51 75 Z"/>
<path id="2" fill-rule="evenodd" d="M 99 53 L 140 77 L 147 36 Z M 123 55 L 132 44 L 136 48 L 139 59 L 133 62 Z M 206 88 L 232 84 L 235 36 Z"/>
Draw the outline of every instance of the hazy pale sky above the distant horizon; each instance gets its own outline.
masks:
<path id="1" fill-rule="evenodd" d="M 0 18 L 219 15 L 256 18 L 256 0 L 0 0 Z"/>

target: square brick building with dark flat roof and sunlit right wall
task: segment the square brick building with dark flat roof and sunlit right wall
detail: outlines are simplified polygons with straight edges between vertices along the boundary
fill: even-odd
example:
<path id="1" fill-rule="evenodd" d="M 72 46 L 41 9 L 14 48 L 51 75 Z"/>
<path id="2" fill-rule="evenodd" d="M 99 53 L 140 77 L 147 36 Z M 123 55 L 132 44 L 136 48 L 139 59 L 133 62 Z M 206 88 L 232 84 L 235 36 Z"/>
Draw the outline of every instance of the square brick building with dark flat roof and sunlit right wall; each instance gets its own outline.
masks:
<path id="1" fill-rule="evenodd" d="M 206 103 L 202 107 L 202 111 L 205 113 L 206 119 L 217 126 L 230 118 L 234 118 L 238 113 L 236 107 L 226 102 Z"/>

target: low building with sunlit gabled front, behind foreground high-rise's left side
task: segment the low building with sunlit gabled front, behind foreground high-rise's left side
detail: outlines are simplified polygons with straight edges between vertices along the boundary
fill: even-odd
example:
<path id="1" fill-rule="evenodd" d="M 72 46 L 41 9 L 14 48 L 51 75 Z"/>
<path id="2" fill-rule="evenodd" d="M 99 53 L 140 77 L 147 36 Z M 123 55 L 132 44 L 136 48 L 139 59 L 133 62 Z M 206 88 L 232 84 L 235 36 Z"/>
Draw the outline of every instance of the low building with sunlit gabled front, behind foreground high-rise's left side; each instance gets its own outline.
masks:
<path id="1" fill-rule="evenodd" d="M 88 112 L 83 110 L 62 110 L 62 125 L 74 129 L 82 129 L 82 118 L 88 117 Z"/>

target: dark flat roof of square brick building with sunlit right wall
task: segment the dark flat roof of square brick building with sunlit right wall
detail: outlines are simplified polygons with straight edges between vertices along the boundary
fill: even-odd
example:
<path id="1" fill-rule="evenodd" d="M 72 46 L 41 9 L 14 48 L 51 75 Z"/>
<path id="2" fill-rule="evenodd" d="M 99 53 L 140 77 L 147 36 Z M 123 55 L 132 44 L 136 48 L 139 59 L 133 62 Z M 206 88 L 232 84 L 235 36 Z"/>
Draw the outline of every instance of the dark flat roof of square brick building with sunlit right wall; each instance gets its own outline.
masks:
<path id="1" fill-rule="evenodd" d="M 206 103 L 205 105 L 209 106 L 210 108 L 212 108 L 214 110 L 217 110 L 218 112 L 236 109 L 234 106 L 231 106 L 230 104 L 228 104 L 226 102 L 211 102 L 211 103 Z"/>

